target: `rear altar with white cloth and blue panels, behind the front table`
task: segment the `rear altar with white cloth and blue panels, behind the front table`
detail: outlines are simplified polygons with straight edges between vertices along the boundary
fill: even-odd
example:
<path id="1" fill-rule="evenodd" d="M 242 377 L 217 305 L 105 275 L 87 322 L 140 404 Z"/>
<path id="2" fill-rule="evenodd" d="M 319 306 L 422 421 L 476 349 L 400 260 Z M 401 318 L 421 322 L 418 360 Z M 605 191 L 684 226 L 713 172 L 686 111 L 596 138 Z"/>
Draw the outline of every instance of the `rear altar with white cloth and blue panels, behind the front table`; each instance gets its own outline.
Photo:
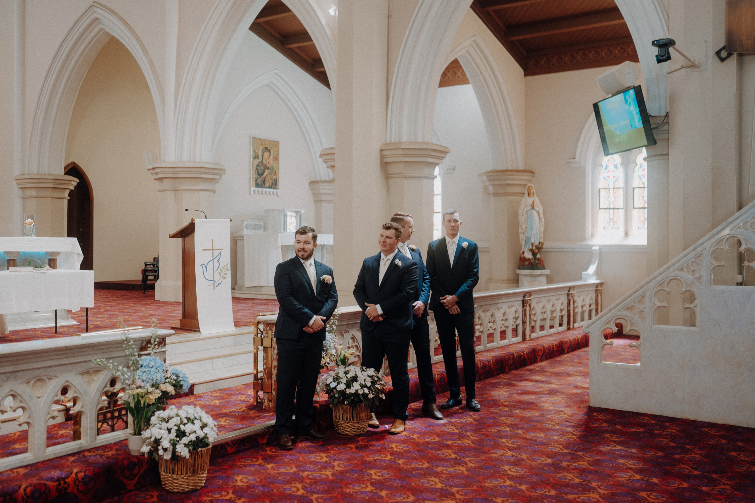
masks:
<path id="1" fill-rule="evenodd" d="M 78 271 L 84 259 L 84 253 L 76 238 L 0 237 L 0 271 L 8 269 L 8 259 L 15 259 L 16 265 L 23 266 L 29 265 L 29 259 L 32 265 L 45 265 L 51 258 L 56 259 L 58 270 Z M 92 288 L 94 288 L 94 279 Z M 53 327 L 54 309 L 0 314 L 0 327 L 5 327 L 5 331 L 0 330 L 0 333 L 7 333 L 8 330 Z M 78 324 L 62 305 L 57 306 L 57 309 L 59 309 L 58 326 Z"/>

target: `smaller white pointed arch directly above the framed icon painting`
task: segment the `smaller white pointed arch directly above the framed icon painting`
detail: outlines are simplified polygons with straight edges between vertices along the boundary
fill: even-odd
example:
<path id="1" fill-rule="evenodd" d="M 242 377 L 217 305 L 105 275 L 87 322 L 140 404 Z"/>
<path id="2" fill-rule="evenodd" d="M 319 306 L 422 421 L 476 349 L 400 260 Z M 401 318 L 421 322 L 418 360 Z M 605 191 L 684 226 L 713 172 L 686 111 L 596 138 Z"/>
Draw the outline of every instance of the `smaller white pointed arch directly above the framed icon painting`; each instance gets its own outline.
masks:
<path id="1" fill-rule="evenodd" d="M 322 127 L 317 120 L 317 116 L 296 84 L 277 68 L 264 72 L 262 75 L 254 78 L 233 99 L 233 103 L 230 104 L 225 115 L 223 115 L 223 119 L 220 121 L 220 126 L 217 127 L 217 133 L 215 133 L 212 143 L 213 154 L 217 147 L 217 142 L 220 140 L 220 135 L 223 133 L 223 128 L 230 116 L 246 97 L 254 93 L 255 90 L 260 89 L 260 87 L 270 87 L 270 90 L 280 98 L 286 108 L 288 108 L 288 111 L 291 112 L 291 115 L 294 115 L 301 133 L 304 135 L 304 140 L 307 141 L 307 150 L 310 152 L 312 167 L 317 174 L 317 179 L 331 179 L 328 168 L 325 167 L 325 164 L 322 164 L 319 158 L 320 152 L 322 149 L 325 149 L 325 134 L 322 132 Z"/>

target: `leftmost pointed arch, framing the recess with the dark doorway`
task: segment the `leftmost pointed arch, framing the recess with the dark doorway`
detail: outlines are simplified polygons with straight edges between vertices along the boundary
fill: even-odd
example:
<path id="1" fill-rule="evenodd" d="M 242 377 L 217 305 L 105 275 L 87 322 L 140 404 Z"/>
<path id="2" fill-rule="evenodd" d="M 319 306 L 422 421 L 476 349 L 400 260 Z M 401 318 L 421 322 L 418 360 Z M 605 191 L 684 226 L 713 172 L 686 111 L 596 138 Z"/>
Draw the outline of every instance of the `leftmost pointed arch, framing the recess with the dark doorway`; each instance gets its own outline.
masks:
<path id="1" fill-rule="evenodd" d="M 63 37 L 48 67 L 32 119 L 26 173 L 63 172 L 66 134 L 76 94 L 89 65 L 108 39 L 116 37 L 128 48 L 149 85 L 162 134 L 163 94 L 146 48 L 115 11 L 93 2 Z"/>

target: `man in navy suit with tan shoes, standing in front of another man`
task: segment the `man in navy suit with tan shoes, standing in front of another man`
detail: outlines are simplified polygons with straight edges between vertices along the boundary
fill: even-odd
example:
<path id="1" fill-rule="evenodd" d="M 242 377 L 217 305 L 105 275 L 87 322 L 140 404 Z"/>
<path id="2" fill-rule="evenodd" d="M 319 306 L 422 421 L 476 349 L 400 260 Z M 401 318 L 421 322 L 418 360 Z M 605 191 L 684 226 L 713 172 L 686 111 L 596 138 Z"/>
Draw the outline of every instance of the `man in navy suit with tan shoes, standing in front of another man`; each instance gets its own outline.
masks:
<path id="1" fill-rule="evenodd" d="M 399 250 L 402 228 L 387 222 L 380 238 L 381 253 L 367 257 L 354 285 L 354 299 L 362 308 L 362 367 L 380 372 L 383 355 L 388 358 L 393 382 L 393 425 L 388 430 L 400 434 L 405 430 L 409 406 L 409 373 L 406 360 L 411 341 L 414 314 L 411 303 L 417 292 L 417 262 Z M 380 426 L 374 414 L 370 426 Z"/>

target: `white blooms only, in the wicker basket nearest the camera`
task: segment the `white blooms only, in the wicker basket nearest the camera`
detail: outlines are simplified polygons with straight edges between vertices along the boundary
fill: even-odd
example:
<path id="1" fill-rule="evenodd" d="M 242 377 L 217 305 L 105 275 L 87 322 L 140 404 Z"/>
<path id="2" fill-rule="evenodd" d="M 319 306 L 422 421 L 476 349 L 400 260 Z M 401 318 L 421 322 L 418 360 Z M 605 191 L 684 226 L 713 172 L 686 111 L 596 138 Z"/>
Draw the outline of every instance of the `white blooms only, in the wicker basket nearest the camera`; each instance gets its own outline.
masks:
<path id="1" fill-rule="evenodd" d="M 190 452 L 209 447 L 217 437 L 217 425 L 199 407 L 171 405 L 152 416 L 142 437 L 144 455 L 151 451 L 156 459 L 162 455 L 176 461 L 178 456 L 188 458 Z"/>

